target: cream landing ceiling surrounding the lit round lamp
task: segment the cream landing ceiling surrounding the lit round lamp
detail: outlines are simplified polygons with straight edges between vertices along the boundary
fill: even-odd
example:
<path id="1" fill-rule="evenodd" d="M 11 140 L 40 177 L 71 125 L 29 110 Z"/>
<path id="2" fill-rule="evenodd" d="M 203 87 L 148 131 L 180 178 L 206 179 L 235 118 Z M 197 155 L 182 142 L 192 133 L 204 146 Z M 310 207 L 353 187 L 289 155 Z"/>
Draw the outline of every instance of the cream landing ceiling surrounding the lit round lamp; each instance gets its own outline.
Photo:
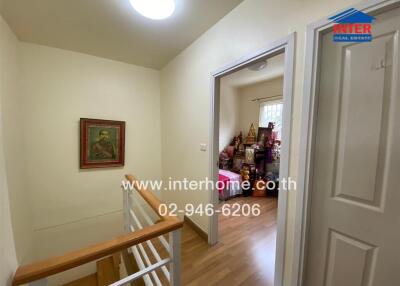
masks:
<path id="1" fill-rule="evenodd" d="M 243 0 L 176 0 L 150 20 L 129 0 L 0 0 L 21 41 L 161 69 Z"/>

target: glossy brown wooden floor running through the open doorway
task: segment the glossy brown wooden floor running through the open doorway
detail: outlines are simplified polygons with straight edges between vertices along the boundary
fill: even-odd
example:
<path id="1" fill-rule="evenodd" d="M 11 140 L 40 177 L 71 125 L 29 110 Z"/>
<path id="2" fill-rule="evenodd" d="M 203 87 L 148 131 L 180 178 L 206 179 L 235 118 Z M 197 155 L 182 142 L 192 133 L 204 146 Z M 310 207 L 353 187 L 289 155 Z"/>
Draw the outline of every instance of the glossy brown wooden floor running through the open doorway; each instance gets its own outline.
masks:
<path id="1" fill-rule="evenodd" d="M 273 285 L 276 198 L 234 198 L 261 205 L 258 217 L 219 218 L 219 243 L 210 247 L 189 226 L 182 233 L 182 285 Z"/>

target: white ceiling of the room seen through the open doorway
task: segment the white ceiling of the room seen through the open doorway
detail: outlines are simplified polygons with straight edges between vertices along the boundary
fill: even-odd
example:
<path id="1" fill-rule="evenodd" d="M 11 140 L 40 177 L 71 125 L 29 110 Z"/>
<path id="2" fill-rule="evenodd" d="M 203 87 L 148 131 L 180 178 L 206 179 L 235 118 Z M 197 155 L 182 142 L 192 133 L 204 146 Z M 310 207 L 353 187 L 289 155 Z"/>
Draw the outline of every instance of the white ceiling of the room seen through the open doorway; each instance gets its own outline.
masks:
<path id="1" fill-rule="evenodd" d="M 267 67 L 260 71 L 253 71 L 243 68 L 228 76 L 222 78 L 222 84 L 233 88 L 259 83 L 283 76 L 284 72 L 284 54 L 274 56 L 267 60 Z"/>

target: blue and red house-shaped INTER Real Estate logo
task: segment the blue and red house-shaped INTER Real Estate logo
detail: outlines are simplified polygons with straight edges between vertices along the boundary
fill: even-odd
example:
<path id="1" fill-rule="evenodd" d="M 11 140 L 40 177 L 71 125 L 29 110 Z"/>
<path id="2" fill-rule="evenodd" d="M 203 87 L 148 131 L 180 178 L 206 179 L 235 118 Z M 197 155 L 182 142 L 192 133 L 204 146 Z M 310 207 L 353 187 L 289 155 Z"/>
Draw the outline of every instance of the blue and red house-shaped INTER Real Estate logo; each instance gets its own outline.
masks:
<path id="1" fill-rule="evenodd" d="M 334 42 L 371 42 L 374 17 L 350 8 L 329 18 L 333 25 Z"/>

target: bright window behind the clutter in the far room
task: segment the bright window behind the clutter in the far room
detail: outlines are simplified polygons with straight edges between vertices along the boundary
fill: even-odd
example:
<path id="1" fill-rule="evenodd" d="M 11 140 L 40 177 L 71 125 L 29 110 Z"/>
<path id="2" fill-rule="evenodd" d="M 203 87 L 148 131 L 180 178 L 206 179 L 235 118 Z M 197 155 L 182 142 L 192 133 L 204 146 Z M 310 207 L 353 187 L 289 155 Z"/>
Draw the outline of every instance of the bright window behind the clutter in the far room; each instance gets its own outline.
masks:
<path id="1" fill-rule="evenodd" d="M 266 101 L 260 104 L 260 127 L 268 127 L 269 122 L 275 124 L 274 131 L 277 139 L 282 135 L 282 100 Z"/>

